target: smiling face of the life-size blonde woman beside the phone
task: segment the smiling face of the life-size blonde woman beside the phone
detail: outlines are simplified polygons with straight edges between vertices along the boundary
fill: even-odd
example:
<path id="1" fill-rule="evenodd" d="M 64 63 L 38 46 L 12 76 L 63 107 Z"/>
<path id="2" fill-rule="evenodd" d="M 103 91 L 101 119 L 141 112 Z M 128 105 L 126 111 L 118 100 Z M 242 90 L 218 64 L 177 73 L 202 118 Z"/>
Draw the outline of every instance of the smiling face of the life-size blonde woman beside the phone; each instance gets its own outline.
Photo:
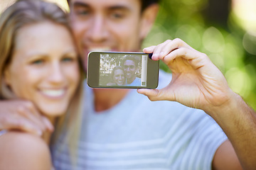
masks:
<path id="1" fill-rule="evenodd" d="M 21 28 L 4 77 L 18 98 L 32 101 L 44 115 L 65 113 L 79 81 L 78 57 L 68 30 L 50 22 Z"/>

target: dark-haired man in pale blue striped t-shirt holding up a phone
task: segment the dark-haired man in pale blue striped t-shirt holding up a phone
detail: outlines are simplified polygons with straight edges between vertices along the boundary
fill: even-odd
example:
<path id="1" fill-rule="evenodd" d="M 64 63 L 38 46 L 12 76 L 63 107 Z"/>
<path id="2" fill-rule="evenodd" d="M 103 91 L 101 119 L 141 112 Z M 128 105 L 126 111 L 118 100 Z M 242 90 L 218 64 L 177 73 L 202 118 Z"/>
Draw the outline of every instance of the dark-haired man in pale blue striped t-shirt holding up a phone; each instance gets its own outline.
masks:
<path id="1" fill-rule="evenodd" d="M 158 0 L 69 0 L 70 24 L 84 67 L 91 51 L 140 52 L 159 11 L 158 3 Z M 80 139 L 77 145 L 67 145 L 63 142 L 66 127 L 62 128 L 63 135 L 51 146 L 55 169 L 254 169 L 256 119 L 249 116 L 250 107 L 242 99 L 230 97 L 231 90 L 222 91 L 218 98 L 193 90 L 195 84 L 191 80 L 199 79 L 202 74 L 204 78 L 222 75 L 215 72 L 208 57 L 179 39 L 167 40 L 144 52 L 153 53 L 154 60 L 175 64 L 169 67 L 173 74 L 159 74 L 159 89 L 166 89 L 162 94 L 168 96 L 173 92 L 165 88 L 170 81 L 177 82 L 176 91 L 182 93 L 173 101 L 152 102 L 134 89 L 91 89 L 85 81 Z M 188 64 L 172 60 L 184 56 Z M 199 60 L 194 62 L 198 56 Z M 203 72 L 197 72 L 201 70 L 196 67 L 198 63 L 206 64 Z M 137 63 L 126 60 L 123 67 L 127 84 L 137 86 L 133 84 L 139 82 L 140 86 L 135 74 Z M 210 92 L 219 84 L 202 84 L 205 81 L 200 80 L 196 85 L 206 86 Z M 153 92 L 155 96 L 157 91 Z M 206 98 L 193 105 L 193 96 Z M 218 102 L 222 96 L 230 100 Z M 165 100 L 161 95 L 158 97 Z M 232 103 L 232 107 L 226 103 Z M 31 108 L 22 113 L 16 109 L 21 106 L 26 108 L 26 101 L 0 102 L 1 129 L 32 133 L 47 129 L 45 123 L 38 126 L 33 122 Z M 16 120 L 16 115 L 22 117 L 18 123 L 11 121 Z M 71 154 L 74 152 L 75 157 Z"/>

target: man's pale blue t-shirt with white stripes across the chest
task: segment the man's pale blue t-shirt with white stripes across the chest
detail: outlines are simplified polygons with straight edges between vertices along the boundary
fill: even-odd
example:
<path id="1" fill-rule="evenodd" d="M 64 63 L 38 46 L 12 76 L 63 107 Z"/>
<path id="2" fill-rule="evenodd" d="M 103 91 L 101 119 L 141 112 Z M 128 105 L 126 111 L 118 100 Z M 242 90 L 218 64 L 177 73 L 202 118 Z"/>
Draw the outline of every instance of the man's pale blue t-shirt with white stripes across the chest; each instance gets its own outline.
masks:
<path id="1" fill-rule="evenodd" d="M 170 81 L 171 74 L 161 72 L 159 88 Z M 78 166 L 70 161 L 63 135 L 51 147 L 56 170 L 207 170 L 216 149 L 227 140 L 203 111 L 177 102 L 152 102 L 136 90 L 113 108 L 96 113 L 92 89 L 85 88 Z"/>

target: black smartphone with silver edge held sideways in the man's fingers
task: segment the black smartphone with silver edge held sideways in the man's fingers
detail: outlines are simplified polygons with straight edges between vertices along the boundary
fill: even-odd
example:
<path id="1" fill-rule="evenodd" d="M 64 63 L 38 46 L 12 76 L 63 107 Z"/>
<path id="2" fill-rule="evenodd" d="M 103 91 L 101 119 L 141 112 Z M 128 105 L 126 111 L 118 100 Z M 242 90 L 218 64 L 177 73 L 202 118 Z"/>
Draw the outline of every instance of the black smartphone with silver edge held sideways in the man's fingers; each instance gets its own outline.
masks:
<path id="1" fill-rule="evenodd" d="M 143 52 L 90 52 L 87 84 L 92 88 L 156 89 L 159 61 Z"/>

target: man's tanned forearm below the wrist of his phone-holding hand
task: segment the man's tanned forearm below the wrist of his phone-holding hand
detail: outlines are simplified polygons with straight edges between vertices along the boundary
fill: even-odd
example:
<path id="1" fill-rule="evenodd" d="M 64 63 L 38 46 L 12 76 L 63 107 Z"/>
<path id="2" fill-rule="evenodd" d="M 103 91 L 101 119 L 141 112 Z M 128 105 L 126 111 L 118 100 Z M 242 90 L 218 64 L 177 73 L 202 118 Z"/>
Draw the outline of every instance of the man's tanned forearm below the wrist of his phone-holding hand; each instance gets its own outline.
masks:
<path id="1" fill-rule="evenodd" d="M 228 105 L 209 111 L 223 128 L 244 169 L 256 167 L 256 113 L 238 94 Z"/>

